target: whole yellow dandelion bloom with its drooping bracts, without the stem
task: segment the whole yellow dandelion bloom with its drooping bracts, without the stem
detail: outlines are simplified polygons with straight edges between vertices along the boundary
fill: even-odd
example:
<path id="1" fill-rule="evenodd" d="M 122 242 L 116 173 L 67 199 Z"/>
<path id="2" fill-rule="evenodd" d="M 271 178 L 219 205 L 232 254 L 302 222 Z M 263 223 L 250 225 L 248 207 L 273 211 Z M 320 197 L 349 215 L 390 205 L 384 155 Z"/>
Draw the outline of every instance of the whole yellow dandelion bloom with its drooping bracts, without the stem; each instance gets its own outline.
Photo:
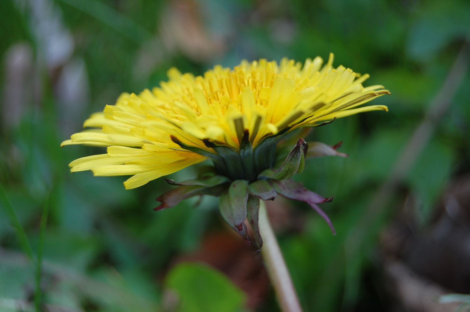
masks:
<path id="1" fill-rule="evenodd" d="M 362 112 L 387 110 L 363 106 L 390 94 L 381 85 L 363 87 L 368 75 L 333 68 L 333 54 L 322 66 L 320 57 L 300 62 L 242 61 L 234 69 L 216 66 L 204 76 L 168 71 L 168 82 L 141 94 L 122 94 L 116 105 L 92 114 L 88 128 L 62 145 L 107 147 L 107 153 L 79 158 L 71 171 L 94 175 L 132 175 L 124 182 L 133 189 L 204 160 L 214 166 L 196 179 L 168 183 L 178 186 L 157 198 L 156 210 L 197 195 L 219 196 L 224 220 L 249 244 L 244 222 L 258 228 L 259 200 L 278 194 L 308 203 L 334 228 L 317 204 L 331 201 L 291 180 L 305 158 L 337 155 L 338 145 L 308 144 L 289 134 Z M 286 147 L 289 149 L 286 151 Z"/>

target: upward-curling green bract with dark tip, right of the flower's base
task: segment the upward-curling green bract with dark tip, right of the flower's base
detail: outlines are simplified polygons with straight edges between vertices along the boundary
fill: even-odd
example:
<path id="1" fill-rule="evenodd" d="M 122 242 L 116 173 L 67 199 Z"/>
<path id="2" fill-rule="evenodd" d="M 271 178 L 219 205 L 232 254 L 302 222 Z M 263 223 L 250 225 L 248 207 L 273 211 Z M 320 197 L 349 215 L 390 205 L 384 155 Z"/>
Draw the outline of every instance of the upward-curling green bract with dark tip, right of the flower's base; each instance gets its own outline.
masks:
<path id="1" fill-rule="evenodd" d="M 305 164 L 305 153 L 307 152 L 307 149 L 308 144 L 304 141 L 304 139 L 299 139 L 279 169 L 266 169 L 261 172 L 261 174 L 259 174 L 259 177 L 273 178 L 276 180 L 289 179 L 292 175 L 303 170 Z"/>

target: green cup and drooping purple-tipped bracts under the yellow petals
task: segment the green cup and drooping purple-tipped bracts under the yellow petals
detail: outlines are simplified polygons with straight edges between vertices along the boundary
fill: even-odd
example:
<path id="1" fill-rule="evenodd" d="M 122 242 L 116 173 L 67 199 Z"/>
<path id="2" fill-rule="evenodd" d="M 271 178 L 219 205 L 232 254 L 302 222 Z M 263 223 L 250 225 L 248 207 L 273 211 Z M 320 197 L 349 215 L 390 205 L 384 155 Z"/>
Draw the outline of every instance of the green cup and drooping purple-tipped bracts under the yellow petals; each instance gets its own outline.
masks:
<path id="1" fill-rule="evenodd" d="M 224 220 L 250 244 L 245 225 L 245 221 L 248 221 L 254 231 L 255 244 L 259 251 L 263 244 L 258 229 L 259 200 L 274 200 L 278 195 L 282 195 L 308 203 L 328 222 L 334 233 L 328 216 L 316 205 L 329 202 L 333 198 L 324 198 L 290 178 L 302 172 L 305 158 L 327 155 L 346 157 L 346 154 L 336 151 L 341 143 L 329 146 L 313 142 L 310 144 L 313 148 L 309 151 L 305 140 L 299 139 L 287 157 L 276 162 L 276 152 L 281 150 L 276 148 L 280 137 L 267 137 L 255 149 L 251 148 L 248 137 L 249 133 L 245 131 L 239 151 L 228 145 L 204 140 L 205 145 L 213 148 L 217 154 L 202 149 L 196 150 L 195 147 L 184 145 L 178 139 L 172 138 L 181 148 L 209 157 L 214 167 L 206 167 L 197 179 L 182 182 L 165 179 L 177 188 L 159 196 L 157 200 L 161 205 L 155 210 L 172 207 L 181 200 L 196 195 L 218 196 L 219 210 Z"/>

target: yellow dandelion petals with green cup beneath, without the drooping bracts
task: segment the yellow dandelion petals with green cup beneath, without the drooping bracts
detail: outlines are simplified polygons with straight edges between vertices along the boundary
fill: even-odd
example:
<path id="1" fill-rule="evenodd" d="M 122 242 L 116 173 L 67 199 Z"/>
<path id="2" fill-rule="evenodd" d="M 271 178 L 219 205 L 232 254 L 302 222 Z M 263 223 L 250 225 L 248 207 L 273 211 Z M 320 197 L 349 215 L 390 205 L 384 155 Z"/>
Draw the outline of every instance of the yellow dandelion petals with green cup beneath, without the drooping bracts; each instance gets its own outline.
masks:
<path id="1" fill-rule="evenodd" d="M 89 129 L 62 143 L 107 147 L 105 154 L 72 161 L 71 171 L 133 175 L 124 183 L 132 189 L 209 158 L 220 175 L 253 181 L 273 167 L 276 143 L 292 130 L 387 110 L 361 105 L 389 91 L 363 87 L 368 75 L 332 62 L 332 54 L 323 66 L 320 57 L 303 65 L 242 61 L 197 77 L 172 68 L 168 82 L 139 95 L 123 93 L 86 120 Z"/>

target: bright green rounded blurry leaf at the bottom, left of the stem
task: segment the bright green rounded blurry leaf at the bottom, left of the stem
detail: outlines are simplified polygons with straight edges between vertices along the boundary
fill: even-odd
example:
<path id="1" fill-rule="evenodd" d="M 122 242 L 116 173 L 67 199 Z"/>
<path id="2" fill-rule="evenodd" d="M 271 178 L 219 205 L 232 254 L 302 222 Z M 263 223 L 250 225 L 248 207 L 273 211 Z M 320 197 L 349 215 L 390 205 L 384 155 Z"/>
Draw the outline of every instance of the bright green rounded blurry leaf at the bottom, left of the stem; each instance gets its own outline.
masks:
<path id="1" fill-rule="evenodd" d="M 243 291 L 224 274 L 203 264 L 178 264 L 167 275 L 165 284 L 177 293 L 177 311 L 236 312 L 246 300 Z"/>

